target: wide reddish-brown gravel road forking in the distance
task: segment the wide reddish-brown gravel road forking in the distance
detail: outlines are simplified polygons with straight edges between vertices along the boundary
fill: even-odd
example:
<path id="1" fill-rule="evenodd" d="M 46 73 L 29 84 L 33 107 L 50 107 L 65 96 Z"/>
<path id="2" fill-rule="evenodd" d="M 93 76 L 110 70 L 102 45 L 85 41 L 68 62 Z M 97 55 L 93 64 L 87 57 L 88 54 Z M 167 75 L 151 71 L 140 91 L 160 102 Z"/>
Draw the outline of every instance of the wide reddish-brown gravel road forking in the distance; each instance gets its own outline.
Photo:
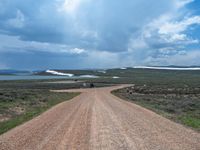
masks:
<path id="1" fill-rule="evenodd" d="M 200 150 L 199 133 L 113 96 L 115 88 L 70 90 L 82 94 L 1 135 L 0 149 Z"/>

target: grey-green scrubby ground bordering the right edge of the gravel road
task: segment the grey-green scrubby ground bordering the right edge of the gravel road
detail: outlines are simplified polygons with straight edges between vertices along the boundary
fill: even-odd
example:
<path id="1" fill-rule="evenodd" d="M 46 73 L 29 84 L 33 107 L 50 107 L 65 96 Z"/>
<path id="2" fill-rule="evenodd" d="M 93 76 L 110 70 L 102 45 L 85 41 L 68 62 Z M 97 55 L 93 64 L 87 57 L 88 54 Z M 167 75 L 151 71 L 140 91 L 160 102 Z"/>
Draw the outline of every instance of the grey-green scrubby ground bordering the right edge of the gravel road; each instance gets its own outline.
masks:
<path id="1" fill-rule="evenodd" d="M 113 94 L 200 131 L 200 87 L 135 85 Z"/>

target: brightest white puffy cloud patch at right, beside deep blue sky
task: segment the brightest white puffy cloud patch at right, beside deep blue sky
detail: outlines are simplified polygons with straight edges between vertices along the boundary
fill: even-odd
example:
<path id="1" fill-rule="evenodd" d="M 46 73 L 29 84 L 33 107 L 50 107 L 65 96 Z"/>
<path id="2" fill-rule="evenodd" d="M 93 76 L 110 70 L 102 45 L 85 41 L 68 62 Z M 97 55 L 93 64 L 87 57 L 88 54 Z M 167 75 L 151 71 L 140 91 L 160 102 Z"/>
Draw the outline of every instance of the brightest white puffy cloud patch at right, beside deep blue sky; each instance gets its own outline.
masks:
<path id="1" fill-rule="evenodd" d="M 191 41 L 191 43 L 196 43 L 197 40 L 189 38 L 184 32 L 192 25 L 200 25 L 200 16 L 192 16 L 180 21 L 175 20 L 177 20 L 177 18 L 171 15 L 163 15 L 153 20 L 144 28 L 142 37 L 153 38 L 157 36 L 157 38 L 169 43 L 178 41 L 182 41 L 183 44 L 186 41 L 186 44 L 190 43 L 189 41 Z"/>

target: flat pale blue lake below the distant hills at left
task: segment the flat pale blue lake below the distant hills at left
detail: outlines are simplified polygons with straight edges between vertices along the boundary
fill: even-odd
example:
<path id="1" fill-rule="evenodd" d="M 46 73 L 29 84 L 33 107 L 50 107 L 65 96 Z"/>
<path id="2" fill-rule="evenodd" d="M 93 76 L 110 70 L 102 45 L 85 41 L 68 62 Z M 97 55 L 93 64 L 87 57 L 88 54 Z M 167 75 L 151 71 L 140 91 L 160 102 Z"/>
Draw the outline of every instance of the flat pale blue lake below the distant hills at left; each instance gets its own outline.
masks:
<path id="1" fill-rule="evenodd" d="M 68 76 L 0 75 L 0 80 L 70 79 Z"/>

